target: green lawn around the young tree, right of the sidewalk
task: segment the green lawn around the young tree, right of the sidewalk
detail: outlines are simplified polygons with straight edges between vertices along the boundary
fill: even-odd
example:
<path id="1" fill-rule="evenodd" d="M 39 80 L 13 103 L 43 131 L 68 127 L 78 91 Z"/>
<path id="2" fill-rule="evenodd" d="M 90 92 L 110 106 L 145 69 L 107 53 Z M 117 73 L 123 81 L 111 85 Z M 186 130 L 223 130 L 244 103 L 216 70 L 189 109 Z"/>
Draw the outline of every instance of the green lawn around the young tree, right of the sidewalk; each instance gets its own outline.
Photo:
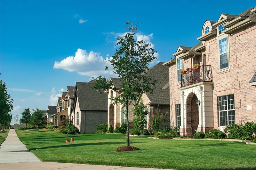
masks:
<path id="1" fill-rule="evenodd" d="M 57 131 L 16 131 L 42 161 L 167 169 L 256 169 L 256 145 L 210 140 L 130 138 L 141 150 L 114 152 L 124 134 L 61 135 Z M 75 137 L 75 142 L 65 139 Z"/>

